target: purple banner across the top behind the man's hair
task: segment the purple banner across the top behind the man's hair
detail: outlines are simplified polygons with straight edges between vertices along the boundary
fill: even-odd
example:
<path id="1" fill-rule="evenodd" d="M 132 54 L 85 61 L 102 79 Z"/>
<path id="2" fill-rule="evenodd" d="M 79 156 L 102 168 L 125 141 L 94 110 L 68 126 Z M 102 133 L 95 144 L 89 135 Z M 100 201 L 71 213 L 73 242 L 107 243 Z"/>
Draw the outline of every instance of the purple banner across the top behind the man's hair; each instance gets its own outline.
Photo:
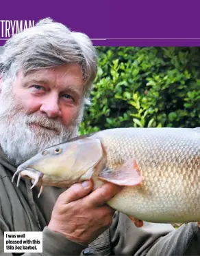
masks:
<path id="1" fill-rule="evenodd" d="M 199 46 L 199 7 L 198 0 L 2 1 L 0 45 L 13 33 L 51 17 L 88 34 L 94 45 Z"/>

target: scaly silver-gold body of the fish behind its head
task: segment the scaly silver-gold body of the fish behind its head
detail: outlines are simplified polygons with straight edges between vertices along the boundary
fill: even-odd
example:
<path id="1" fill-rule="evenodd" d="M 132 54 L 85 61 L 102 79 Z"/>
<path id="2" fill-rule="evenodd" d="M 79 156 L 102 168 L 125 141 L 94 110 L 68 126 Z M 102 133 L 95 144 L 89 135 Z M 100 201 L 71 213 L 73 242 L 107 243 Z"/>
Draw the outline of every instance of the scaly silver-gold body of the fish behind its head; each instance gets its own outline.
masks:
<path id="1" fill-rule="evenodd" d="M 200 220 L 199 129 L 116 129 L 98 136 L 108 168 L 132 159 L 144 177 L 142 184 L 125 187 L 110 206 L 149 222 Z"/>

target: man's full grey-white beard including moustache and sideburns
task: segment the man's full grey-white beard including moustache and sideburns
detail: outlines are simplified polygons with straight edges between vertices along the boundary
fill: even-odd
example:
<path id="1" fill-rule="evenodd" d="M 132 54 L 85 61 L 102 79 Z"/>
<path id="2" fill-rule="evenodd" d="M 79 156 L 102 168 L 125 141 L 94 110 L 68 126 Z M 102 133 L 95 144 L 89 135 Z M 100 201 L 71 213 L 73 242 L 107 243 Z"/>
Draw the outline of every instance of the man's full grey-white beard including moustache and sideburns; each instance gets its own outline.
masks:
<path id="1" fill-rule="evenodd" d="M 78 136 L 78 127 L 82 121 L 83 109 L 71 125 L 66 128 L 58 120 L 49 119 L 44 115 L 26 114 L 19 109 L 16 110 L 14 100 L 11 99 L 10 95 L 5 97 L 6 102 L 3 100 L 2 94 L 0 96 L 2 106 L 0 109 L 0 145 L 12 164 L 18 166 L 43 149 Z M 45 125 L 59 132 L 42 128 L 40 131 L 32 131 L 29 128 L 30 123 Z"/>

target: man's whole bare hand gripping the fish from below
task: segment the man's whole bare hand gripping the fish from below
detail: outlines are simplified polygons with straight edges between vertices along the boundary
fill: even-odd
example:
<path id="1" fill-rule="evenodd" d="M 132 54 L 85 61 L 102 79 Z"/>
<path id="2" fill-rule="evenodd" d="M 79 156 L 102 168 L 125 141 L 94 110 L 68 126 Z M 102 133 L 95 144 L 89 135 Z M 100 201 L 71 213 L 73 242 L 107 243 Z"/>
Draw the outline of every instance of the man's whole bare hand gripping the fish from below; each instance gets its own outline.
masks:
<path id="1" fill-rule="evenodd" d="M 90 244 L 112 224 L 115 210 L 105 203 L 120 190 L 111 183 L 95 191 L 91 181 L 74 184 L 55 203 L 49 229 L 74 242 Z"/>

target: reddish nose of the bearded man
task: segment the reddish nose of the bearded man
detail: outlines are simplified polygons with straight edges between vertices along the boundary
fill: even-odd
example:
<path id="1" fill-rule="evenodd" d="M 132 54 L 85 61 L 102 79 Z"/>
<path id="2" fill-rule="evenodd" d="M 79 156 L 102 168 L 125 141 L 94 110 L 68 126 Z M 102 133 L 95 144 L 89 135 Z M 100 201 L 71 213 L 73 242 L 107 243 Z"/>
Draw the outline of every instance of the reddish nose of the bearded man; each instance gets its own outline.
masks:
<path id="1" fill-rule="evenodd" d="M 58 102 L 58 96 L 47 96 L 47 98 L 42 102 L 40 111 L 47 114 L 49 118 L 60 117 L 61 111 Z"/>

